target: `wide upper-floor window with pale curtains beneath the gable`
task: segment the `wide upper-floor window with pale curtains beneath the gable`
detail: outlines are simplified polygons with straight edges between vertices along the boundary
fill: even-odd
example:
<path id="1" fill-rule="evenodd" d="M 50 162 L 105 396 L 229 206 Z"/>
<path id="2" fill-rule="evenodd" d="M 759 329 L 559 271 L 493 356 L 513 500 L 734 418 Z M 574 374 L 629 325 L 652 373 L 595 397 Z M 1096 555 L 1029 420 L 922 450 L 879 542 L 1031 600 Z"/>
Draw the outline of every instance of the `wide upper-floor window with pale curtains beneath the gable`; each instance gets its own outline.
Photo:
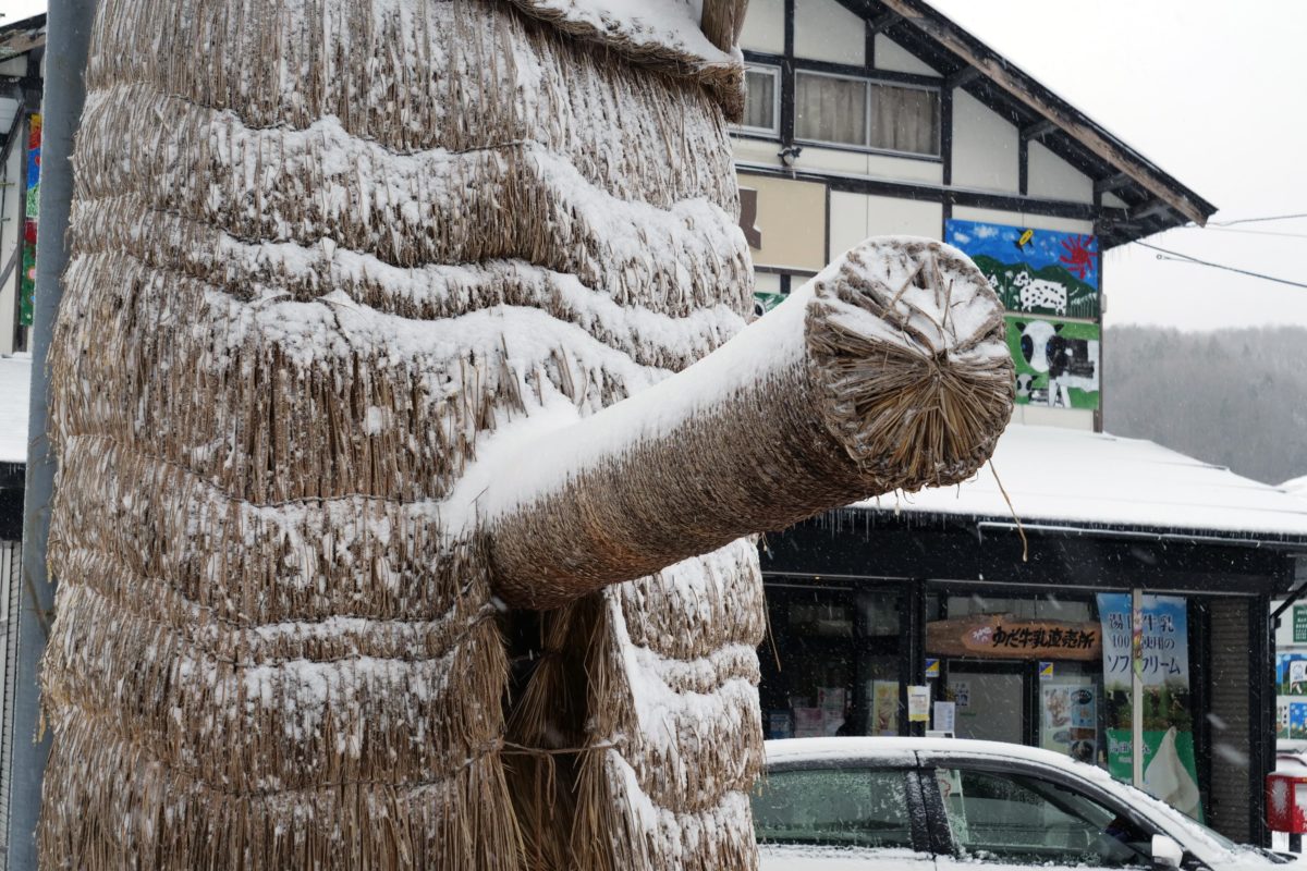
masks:
<path id="1" fill-rule="evenodd" d="M 940 94 L 800 69 L 795 73 L 795 138 L 935 157 L 940 154 Z"/>

